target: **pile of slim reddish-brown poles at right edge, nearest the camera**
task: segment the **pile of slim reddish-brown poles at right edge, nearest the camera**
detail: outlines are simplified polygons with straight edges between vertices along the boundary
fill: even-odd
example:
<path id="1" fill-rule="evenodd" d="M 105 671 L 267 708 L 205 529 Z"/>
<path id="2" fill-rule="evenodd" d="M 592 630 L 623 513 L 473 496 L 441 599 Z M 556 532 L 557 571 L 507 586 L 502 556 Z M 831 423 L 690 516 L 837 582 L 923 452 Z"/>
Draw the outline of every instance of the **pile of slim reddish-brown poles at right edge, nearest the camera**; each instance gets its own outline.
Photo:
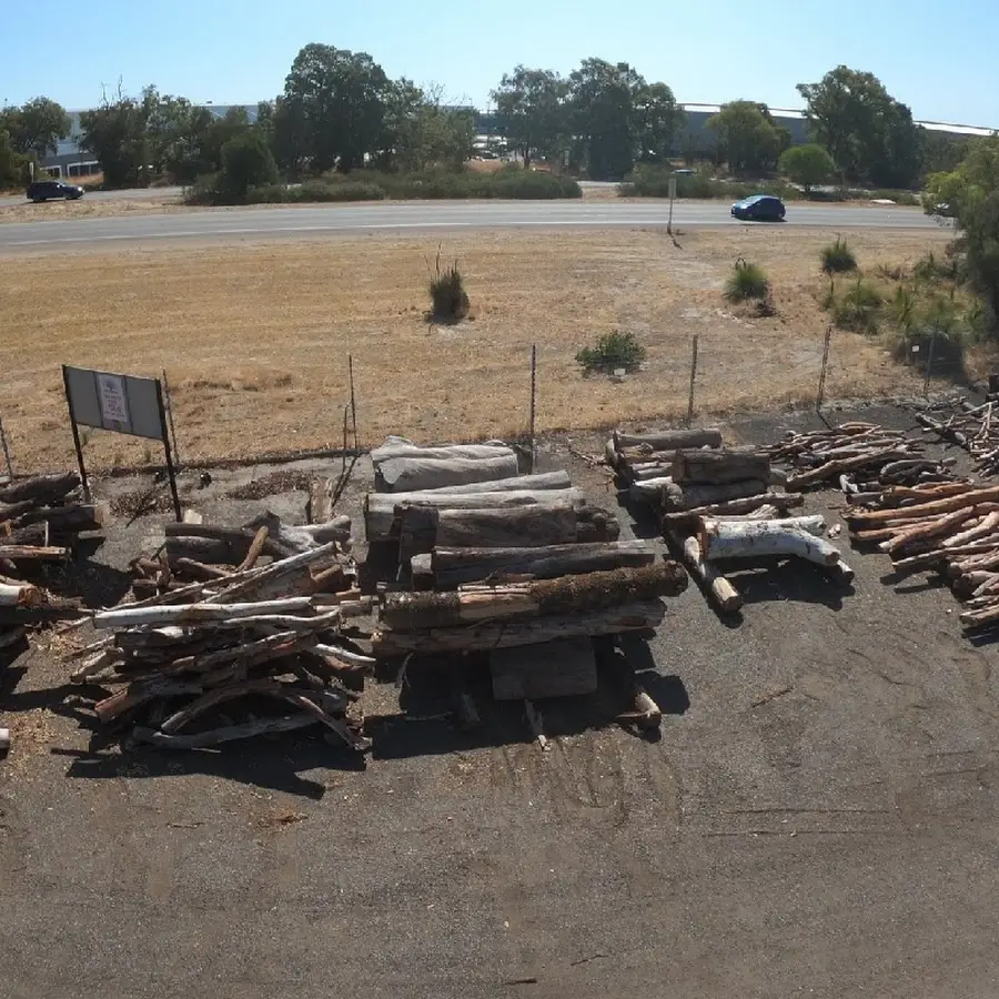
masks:
<path id="1" fill-rule="evenodd" d="M 968 482 L 885 486 L 846 515 L 857 544 L 876 544 L 899 576 L 936 573 L 965 602 L 969 630 L 999 626 L 999 487 Z"/>

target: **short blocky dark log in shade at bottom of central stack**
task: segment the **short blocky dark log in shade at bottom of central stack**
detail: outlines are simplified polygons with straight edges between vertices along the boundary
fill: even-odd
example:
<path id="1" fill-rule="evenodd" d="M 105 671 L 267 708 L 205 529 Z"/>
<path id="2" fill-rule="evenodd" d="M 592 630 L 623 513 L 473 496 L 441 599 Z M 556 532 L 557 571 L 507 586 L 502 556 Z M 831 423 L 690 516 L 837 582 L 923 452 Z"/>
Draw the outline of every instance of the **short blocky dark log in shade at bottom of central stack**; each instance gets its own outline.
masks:
<path id="1" fill-rule="evenodd" d="M 532 700 L 578 697 L 597 688 L 596 656 L 589 638 L 497 648 L 490 654 L 493 697 Z"/>

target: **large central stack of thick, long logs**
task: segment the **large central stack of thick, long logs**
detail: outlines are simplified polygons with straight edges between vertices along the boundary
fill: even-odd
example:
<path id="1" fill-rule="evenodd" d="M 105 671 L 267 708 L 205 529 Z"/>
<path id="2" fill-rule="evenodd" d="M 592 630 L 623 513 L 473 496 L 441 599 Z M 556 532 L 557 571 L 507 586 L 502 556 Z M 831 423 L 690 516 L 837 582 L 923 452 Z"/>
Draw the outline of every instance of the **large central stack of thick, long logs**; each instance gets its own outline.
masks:
<path id="1" fill-rule="evenodd" d="M 593 693 L 589 639 L 655 628 L 659 598 L 686 586 L 680 566 L 619 541 L 617 517 L 591 506 L 567 473 L 519 476 L 505 445 L 390 438 L 372 462 L 367 541 L 398 545 L 400 578 L 414 591 L 382 594 L 376 657 L 487 653 L 494 695 L 529 708 Z M 636 704 L 658 719 L 647 696 Z"/>

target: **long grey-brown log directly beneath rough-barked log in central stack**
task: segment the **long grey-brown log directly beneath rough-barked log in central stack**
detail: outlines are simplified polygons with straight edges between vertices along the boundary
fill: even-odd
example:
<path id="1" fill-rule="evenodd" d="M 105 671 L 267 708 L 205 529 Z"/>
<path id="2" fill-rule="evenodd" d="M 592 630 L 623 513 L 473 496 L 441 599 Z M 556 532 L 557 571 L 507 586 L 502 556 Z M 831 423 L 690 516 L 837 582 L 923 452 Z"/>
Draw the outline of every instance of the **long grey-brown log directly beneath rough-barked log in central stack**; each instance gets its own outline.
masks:
<path id="1" fill-rule="evenodd" d="M 445 652 L 475 652 L 536 645 L 556 638 L 585 635 L 615 635 L 619 632 L 648 630 L 663 623 L 666 608 L 659 601 L 629 604 L 595 613 L 576 613 L 531 620 L 506 620 L 462 628 L 428 628 L 421 632 L 375 632 L 375 656 L 404 656 Z"/>

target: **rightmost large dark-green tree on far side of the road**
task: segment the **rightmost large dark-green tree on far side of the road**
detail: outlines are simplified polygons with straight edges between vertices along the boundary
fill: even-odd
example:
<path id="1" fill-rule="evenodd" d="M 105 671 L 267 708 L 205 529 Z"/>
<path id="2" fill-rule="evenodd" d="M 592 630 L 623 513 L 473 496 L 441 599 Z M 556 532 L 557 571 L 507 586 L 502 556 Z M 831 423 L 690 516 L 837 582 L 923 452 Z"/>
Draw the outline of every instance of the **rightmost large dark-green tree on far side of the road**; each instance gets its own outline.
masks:
<path id="1" fill-rule="evenodd" d="M 872 73 L 838 65 L 818 83 L 799 83 L 813 138 L 850 180 L 910 186 L 921 167 L 912 112 Z"/>

